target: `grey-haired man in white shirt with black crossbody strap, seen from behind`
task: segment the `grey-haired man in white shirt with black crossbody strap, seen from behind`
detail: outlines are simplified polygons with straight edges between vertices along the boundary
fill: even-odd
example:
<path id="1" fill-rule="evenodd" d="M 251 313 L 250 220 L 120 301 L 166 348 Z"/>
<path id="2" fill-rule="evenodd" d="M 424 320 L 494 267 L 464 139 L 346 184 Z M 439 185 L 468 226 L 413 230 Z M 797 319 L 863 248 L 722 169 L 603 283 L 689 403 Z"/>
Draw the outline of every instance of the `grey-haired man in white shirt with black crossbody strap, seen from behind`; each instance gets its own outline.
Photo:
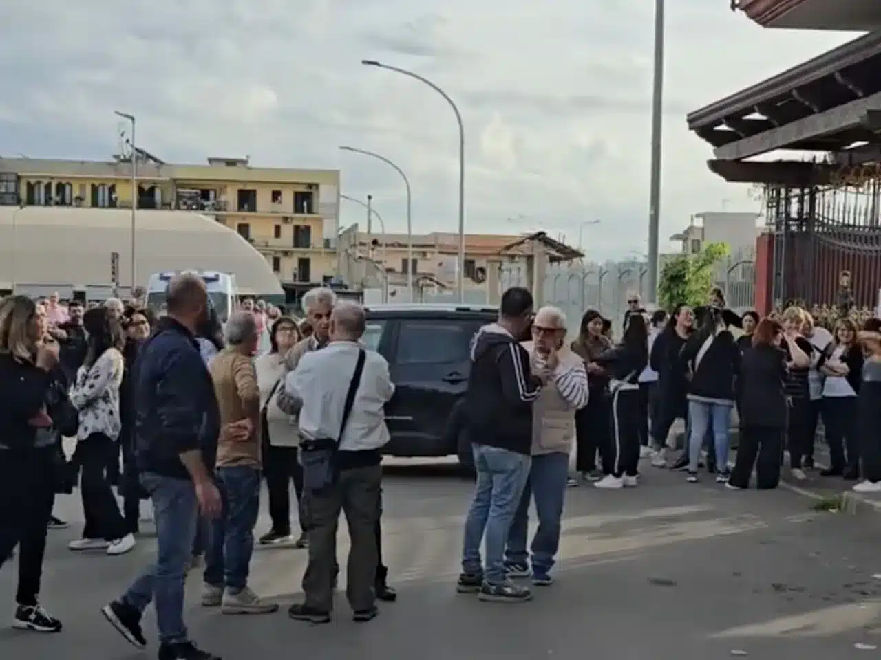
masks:
<path id="1" fill-rule="evenodd" d="M 337 567 L 337 522 L 348 521 L 349 551 L 346 595 L 356 621 L 372 620 L 379 565 L 376 529 L 381 515 L 382 447 L 389 442 L 384 406 L 395 393 L 389 364 L 366 350 L 364 309 L 340 302 L 330 315 L 329 344 L 300 358 L 285 378 L 285 392 L 300 400 L 300 437 L 304 500 L 308 510 L 309 563 L 303 576 L 305 602 L 291 606 L 295 620 L 327 623 L 333 607 Z M 361 373 L 358 365 L 362 364 Z M 352 384 L 354 397 L 344 414 Z M 332 462 L 333 478 L 322 458 Z M 310 449 L 311 448 L 311 449 Z M 310 472 L 311 471 L 311 472 Z"/>

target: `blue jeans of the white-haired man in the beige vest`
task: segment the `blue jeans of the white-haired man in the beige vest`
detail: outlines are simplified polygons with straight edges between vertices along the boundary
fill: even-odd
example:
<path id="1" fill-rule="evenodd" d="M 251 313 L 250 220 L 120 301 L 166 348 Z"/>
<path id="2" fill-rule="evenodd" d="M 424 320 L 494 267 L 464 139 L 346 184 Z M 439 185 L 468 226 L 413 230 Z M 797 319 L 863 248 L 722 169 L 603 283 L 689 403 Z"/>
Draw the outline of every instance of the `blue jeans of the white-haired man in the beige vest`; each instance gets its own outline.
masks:
<path id="1" fill-rule="evenodd" d="M 547 576 L 554 565 L 559 548 L 560 519 L 566 496 L 566 477 L 569 473 L 569 455 L 564 453 L 543 454 L 532 457 L 529 480 L 523 488 L 520 505 L 507 534 L 508 564 L 525 564 L 526 537 L 529 532 L 529 501 L 535 497 L 538 529 L 532 539 L 532 573 Z"/>

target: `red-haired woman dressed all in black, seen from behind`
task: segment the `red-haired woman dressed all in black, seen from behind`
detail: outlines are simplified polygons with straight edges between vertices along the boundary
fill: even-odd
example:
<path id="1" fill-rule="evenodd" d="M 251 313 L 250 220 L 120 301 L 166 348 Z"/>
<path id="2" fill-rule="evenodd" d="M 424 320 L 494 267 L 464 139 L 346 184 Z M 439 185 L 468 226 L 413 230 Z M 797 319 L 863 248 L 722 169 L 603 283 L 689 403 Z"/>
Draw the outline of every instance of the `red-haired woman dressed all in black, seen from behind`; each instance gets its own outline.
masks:
<path id="1" fill-rule="evenodd" d="M 788 416 L 786 353 L 781 349 L 782 338 L 782 326 L 772 319 L 763 319 L 752 334 L 751 348 L 747 348 L 741 358 L 737 379 L 740 447 L 726 483 L 728 488 L 748 488 L 753 466 L 759 490 L 777 488 L 780 483 Z"/>

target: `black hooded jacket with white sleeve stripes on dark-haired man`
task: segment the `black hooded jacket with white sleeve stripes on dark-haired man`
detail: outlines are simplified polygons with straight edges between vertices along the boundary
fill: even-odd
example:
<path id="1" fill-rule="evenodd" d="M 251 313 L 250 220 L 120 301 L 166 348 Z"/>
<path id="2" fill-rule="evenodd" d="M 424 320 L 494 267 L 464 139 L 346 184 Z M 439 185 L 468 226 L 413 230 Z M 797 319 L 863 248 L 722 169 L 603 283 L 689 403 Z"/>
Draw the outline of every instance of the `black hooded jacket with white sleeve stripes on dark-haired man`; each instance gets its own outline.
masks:
<path id="1" fill-rule="evenodd" d="M 540 392 L 526 348 L 497 323 L 481 327 L 471 341 L 464 403 L 471 440 L 529 456 L 532 404 Z"/>

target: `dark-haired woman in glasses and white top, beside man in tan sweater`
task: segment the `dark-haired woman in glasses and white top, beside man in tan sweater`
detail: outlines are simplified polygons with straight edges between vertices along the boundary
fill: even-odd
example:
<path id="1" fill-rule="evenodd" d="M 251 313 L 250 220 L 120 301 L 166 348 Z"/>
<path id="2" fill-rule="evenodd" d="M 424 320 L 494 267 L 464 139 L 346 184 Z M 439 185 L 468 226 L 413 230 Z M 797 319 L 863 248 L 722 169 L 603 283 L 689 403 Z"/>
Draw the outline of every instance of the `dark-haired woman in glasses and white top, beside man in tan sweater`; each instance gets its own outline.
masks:
<path id="1" fill-rule="evenodd" d="M 303 468 L 300 466 L 296 418 L 283 413 L 276 403 L 278 389 L 284 387 L 280 379 L 285 374 L 285 355 L 300 341 L 296 321 L 282 317 L 270 328 L 270 350 L 257 357 L 257 386 L 260 388 L 260 417 L 263 432 L 263 470 L 266 488 L 270 496 L 272 529 L 260 537 L 263 546 L 293 543 L 291 535 L 291 495 L 294 493 L 299 507 L 303 492 Z M 294 545 L 306 547 L 306 531 L 300 518 L 300 539 Z"/>

